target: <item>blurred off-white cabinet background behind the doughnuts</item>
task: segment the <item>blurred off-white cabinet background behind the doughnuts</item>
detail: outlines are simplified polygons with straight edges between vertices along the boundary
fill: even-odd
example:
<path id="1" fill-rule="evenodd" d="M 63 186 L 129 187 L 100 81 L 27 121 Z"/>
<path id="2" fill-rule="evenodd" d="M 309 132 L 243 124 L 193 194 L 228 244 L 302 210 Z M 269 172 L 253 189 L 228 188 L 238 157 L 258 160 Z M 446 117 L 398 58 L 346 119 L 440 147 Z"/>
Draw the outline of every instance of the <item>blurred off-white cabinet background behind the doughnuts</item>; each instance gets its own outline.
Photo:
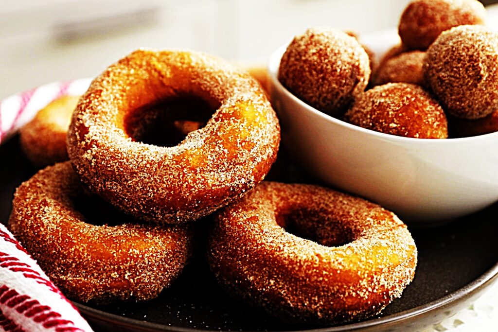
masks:
<path id="1" fill-rule="evenodd" d="M 409 0 L 0 0 L 0 99 L 94 77 L 139 47 L 265 63 L 307 27 L 397 26 Z"/>

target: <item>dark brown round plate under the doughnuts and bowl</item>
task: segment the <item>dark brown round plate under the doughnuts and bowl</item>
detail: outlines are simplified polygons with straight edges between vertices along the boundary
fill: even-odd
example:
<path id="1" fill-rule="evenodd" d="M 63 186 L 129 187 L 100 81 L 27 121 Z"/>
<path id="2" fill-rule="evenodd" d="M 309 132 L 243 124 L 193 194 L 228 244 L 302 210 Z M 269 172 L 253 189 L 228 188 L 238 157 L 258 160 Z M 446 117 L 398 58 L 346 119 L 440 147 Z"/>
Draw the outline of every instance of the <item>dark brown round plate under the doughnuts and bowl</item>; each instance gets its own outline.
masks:
<path id="1" fill-rule="evenodd" d="M 0 221 L 5 223 L 15 187 L 36 170 L 20 152 L 17 137 L 0 146 L 0 161 Z M 286 180 L 302 180 L 282 164 L 285 161 L 276 168 Z M 275 173 L 272 177 L 278 178 Z M 419 251 L 414 281 L 381 315 L 348 325 L 315 327 L 275 321 L 224 294 L 202 254 L 155 300 L 76 305 L 96 331 L 418 330 L 470 305 L 497 280 L 496 216 L 498 204 L 446 225 L 410 229 Z"/>

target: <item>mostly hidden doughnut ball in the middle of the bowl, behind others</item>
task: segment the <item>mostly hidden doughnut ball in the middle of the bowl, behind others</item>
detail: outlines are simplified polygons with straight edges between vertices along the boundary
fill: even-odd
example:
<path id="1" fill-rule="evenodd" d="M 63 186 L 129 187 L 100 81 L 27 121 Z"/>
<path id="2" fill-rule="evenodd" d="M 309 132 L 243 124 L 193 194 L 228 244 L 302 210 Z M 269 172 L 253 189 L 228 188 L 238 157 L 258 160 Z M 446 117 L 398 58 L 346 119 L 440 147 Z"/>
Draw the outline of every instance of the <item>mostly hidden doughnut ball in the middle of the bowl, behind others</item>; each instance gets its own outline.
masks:
<path id="1" fill-rule="evenodd" d="M 423 86 L 425 84 L 422 71 L 424 57 L 425 52 L 415 50 L 387 59 L 375 73 L 373 84 L 404 82 Z"/>

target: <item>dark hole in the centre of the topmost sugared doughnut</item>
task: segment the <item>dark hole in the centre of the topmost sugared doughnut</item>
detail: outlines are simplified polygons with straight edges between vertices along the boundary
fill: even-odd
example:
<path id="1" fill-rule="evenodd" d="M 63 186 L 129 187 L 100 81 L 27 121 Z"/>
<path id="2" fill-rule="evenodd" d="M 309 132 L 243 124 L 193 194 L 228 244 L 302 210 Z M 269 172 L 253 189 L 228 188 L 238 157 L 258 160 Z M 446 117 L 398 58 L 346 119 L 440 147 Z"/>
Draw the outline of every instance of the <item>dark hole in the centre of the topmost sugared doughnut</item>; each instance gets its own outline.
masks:
<path id="1" fill-rule="evenodd" d="M 176 146 L 189 132 L 204 127 L 219 107 L 195 95 L 169 97 L 129 111 L 124 130 L 134 141 Z"/>

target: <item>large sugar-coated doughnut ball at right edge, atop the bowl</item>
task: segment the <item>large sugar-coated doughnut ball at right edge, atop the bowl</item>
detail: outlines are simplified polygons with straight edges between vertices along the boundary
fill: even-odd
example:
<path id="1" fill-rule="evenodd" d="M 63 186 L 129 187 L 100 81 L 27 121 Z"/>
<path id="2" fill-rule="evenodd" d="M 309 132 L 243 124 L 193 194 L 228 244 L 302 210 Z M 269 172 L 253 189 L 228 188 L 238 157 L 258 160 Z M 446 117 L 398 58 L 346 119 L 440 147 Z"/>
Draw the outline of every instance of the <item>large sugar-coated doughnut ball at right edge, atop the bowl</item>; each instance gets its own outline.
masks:
<path id="1" fill-rule="evenodd" d="M 441 33 L 427 50 L 423 71 L 448 113 L 477 119 L 498 109 L 498 33 L 479 25 Z"/>

